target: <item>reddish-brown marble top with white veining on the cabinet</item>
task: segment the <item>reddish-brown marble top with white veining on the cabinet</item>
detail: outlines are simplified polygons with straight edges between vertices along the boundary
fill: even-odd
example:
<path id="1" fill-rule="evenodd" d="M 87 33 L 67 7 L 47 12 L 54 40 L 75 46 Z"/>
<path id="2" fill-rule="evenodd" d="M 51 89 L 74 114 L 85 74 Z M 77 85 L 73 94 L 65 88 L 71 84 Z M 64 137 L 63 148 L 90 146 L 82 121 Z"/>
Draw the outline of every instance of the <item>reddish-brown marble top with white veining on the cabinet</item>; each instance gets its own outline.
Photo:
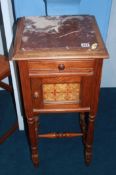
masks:
<path id="1" fill-rule="evenodd" d="M 91 49 L 99 43 L 94 18 L 85 16 L 25 17 L 20 49 Z"/>

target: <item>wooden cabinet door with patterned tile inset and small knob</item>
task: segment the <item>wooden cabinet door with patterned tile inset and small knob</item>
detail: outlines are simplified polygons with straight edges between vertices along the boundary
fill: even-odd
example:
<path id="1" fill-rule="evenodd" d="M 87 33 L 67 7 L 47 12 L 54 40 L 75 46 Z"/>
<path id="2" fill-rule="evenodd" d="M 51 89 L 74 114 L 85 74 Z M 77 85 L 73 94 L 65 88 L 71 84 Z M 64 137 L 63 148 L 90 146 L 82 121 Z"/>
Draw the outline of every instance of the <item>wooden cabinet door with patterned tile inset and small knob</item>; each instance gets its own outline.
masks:
<path id="1" fill-rule="evenodd" d="M 32 77 L 30 82 L 34 111 L 90 106 L 92 76 Z"/>

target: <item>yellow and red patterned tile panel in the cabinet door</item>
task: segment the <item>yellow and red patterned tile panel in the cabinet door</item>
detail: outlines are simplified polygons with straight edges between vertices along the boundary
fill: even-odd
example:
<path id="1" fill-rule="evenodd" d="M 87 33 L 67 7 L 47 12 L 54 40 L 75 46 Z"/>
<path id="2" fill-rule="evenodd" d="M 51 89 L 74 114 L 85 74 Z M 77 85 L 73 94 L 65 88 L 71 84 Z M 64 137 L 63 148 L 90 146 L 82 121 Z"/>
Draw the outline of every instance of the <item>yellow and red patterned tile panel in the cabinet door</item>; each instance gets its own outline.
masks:
<path id="1" fill-rule="evenodd" d="M 80 84 L 44 84 L 43 99 L 44 103 L 72 103 L 79 102 Z"/>

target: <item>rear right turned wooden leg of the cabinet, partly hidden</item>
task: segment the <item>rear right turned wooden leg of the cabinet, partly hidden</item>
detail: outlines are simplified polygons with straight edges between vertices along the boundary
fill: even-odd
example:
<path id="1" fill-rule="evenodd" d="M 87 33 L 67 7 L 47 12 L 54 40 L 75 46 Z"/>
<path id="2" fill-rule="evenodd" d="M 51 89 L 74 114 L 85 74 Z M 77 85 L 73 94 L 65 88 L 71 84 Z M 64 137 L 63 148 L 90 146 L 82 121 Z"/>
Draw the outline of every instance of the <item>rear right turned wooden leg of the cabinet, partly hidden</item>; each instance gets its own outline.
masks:
<path id="1" fill-rule="evenodd" d="M 85 139 L 86 139 L 86 121 L 85 121 L 85 113 L 80 113 L 80 127 L 81 127 L 81 131 L 83 133 L 83 143 L 85 144 Z"/>

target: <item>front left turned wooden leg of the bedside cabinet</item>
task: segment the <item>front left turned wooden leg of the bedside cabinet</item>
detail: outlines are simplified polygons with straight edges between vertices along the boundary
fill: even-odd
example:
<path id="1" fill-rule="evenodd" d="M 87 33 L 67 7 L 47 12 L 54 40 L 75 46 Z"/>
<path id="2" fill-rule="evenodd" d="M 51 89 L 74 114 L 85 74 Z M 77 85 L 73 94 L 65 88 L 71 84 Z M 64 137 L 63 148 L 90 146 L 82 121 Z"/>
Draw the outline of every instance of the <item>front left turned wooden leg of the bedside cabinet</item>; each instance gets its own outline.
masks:
<path id="1" fill-rule="evenodd" d="M 39 156 L 38 156 L 38 139 L 35 125 L 35 118 L 27 118 L 28 128 L 29 128 L 29 141 L 32 151 L 32 161 L 33 164 L 37 167 L 39 165 Z"/>

